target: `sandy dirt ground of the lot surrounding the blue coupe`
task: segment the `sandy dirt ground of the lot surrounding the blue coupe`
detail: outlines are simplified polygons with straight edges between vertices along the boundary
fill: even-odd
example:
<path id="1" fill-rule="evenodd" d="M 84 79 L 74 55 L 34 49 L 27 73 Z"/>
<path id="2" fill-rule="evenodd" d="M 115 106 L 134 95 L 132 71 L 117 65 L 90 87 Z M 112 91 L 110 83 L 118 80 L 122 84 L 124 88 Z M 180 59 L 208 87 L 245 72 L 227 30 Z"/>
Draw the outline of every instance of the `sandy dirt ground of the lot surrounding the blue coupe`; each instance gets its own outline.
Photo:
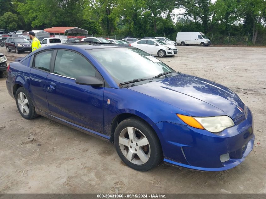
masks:
<path id="1" fill-rule="evenodd" d="M 27 54 L 0 52 L 8 62 Z M 44 117 L 23 119 L 0 78 L 0 193 L 266 193 L 266 48 L 185 46 L 161 60 L 228 86 L 251 108 L 256 145 L 243 163 L 222 172 L 135 171 L 108 141 Z"/>

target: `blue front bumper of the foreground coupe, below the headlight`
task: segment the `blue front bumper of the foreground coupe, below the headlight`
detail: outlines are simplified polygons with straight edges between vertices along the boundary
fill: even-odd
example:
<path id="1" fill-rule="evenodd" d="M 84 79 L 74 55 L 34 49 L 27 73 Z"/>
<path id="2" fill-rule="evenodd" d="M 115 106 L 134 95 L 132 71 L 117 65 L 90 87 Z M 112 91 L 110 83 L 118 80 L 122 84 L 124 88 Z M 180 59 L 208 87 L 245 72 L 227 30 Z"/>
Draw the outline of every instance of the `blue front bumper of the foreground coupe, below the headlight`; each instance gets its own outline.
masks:
<path id="1" fill-rule="evenodd" d="M 235 126 L 220 133 L 210 133 L 190 126 L 159 122 L 156 130 L 164 153 L 164 162 L 202 171 L 231 169 L 252 151 L 255 136 L 249 108 Z M 158 129 L 157 129 L 158 128 Z M 227 155 L 226 161 L 221 159 Z"/>

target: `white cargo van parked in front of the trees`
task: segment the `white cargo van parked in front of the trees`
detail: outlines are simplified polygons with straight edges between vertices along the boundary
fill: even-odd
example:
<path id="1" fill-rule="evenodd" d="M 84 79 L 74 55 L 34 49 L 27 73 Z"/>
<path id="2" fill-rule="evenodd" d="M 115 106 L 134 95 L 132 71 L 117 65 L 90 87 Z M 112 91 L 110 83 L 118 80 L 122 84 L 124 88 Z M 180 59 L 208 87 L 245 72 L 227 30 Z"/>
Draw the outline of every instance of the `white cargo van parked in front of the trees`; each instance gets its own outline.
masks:
<path id="1" fill-rule="evenodd" d="M 209 46 L 211 41 L 202 32 L 178 32 L 176 43 L 181 44 L 181 46 L 188 46 L 189 44 Z"/>

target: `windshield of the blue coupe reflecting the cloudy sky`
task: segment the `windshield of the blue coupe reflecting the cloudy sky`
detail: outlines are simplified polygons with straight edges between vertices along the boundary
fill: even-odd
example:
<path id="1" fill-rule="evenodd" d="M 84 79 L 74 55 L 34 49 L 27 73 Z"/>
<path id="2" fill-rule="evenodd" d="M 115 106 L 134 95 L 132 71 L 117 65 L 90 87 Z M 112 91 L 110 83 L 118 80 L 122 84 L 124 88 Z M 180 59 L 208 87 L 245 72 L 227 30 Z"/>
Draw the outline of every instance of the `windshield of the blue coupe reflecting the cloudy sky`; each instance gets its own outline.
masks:
<path id="1" fill-rule="evenodd" d="M 160 60 L 134 47 L 88 51 L 103 65 L 117 84 L 151 78 L 164 72 L 175 72 Z"/>

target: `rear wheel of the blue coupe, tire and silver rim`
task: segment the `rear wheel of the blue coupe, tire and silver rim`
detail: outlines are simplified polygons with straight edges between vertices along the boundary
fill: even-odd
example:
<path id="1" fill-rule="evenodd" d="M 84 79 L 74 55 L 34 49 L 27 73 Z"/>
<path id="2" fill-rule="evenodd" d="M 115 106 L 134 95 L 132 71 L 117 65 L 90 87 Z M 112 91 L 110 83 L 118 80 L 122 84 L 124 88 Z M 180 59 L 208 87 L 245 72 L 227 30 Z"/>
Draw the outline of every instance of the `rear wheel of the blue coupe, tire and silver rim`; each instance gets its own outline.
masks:
<path id="1" fill-rule="evenodd" d="M 33 119 L 38 116 L 28 91 L 23 87 L 20 87 L 16 92 L 16 104 L 23 118 Z"/>

